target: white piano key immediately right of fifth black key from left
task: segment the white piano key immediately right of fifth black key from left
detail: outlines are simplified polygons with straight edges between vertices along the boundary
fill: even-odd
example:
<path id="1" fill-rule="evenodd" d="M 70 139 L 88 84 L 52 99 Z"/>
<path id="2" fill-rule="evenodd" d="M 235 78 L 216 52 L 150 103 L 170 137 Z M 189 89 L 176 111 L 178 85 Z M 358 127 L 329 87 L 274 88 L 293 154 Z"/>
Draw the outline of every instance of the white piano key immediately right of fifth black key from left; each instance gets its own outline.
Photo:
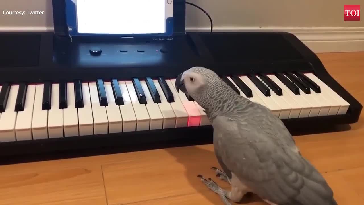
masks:
<path id="1" fill-rule="evenodd" d="M 92 116 L 91 97 L 88 82 L 82 83 L 83 108 L 77 108 L 79 134 L 93 135 L 94 134 L 94 118 Z"/>

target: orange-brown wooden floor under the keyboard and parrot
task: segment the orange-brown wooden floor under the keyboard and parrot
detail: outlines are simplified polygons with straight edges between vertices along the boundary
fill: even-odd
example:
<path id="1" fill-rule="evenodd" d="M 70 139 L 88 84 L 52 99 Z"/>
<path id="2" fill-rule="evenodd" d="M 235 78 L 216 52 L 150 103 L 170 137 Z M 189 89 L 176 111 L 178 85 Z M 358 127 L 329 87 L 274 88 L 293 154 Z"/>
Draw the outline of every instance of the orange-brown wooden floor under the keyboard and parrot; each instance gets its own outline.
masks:
<path id="1" fill-rule="evenodd" d="M 364 102 L 364 53 L 318 54 Z M 339 205 L 364 204 L 364 119 L 331 133 L 294 138 L 327 179 Z M 222 205 L 197 178 L 216 179 L 211 145 L 0 166 L 0 205 Z M 257 197 L 244 201 L 262 205 Z"/>

